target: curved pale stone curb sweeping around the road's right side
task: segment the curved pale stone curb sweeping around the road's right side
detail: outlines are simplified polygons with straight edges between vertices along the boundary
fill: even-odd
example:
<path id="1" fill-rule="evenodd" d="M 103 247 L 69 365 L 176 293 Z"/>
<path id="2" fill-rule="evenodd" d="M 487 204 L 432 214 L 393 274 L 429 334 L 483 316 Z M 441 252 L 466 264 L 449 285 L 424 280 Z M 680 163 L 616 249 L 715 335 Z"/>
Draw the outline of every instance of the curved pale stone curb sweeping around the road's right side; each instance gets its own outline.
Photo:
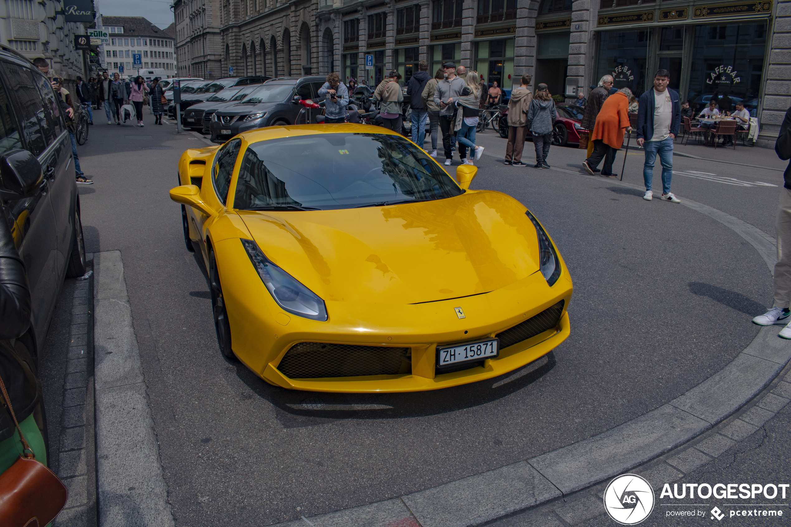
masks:
<path id="1" fill-rule="evenodd" d="M 641 186 L 615 179 L 563 168 L 551 170 L 643 190 Z M 679 199 L 682 205 L 710 216 L 746 239 L 758 250 L 770 273 L 774 272 L 777 256 L 775 241 L 770 235 L 708 205 Z M 600 484 L 612 476 L 644 465 L 683 446 L 738 412 L 761 393 L 791 359 L 791 342 L 778 338 L 778 331 L 779 328 L 775 326 L 760 329 L 755 339 L 736 359 L 706 381 L 651 412 L 589 439 L 499 469 L 414 492 L 399 499 L 320 514 L 312 518 L 303 517 L 279 525 L 468 527 L 481 525 L 518 510 L 548 503 L 562 495 Z M 791 378 L 786 380 L 791 381 Z M 782 382 L 782 385 L 786 384 L 788 387 L 778 386 L 773 397 L 784 400 L 791 397 L 791 383 Z M 777 405 L 778 402 L 775 401 L 775 406 Z M 763 419 L 763 424 L 769 418 L 767 416 L 770 416 L 770 411 L 759 409 L 761 412 L 756 411 L 755 416 L 747 419 Z M 720 454 L 732 442 L 744 439 L 757 428 L 755 423 L 744 420 L 729 423 L 717 436 L 731 440 L 728 446 L 722 448 Z M 695 452 L 700 454 L 702 451 Z M 686 457 L 682 457 L 684 453 L 687 454 Z M 679 465 L 694 465 L 695 459 L 690 457 L 690 450 L 684 449 L 682 454 L 675 457 Z M 672 469 L 669 465 L 667 468 Z M 682 472 L 678 473 L 682 475 Z M 474 496 L 474 499 L 465 499 L 467 496 Z M 547 522 L 547 525 L 553 524 Z M 554 525 L 562 524 L 554 520 Z"/>

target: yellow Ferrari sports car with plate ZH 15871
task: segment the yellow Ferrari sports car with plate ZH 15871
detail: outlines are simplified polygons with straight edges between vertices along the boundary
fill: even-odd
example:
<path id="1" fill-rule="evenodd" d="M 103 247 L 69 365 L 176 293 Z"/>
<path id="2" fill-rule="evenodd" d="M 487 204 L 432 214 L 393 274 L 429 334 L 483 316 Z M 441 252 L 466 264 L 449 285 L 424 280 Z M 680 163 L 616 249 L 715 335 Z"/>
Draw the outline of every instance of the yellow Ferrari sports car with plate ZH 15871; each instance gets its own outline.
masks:
<path id="1" fill-rule="evenodd" d="M 187 249 L 221 352 L 321 392 L 437 390 L 513 371 L 569 336 L 572 292 L 519 201 L 470 190 L 380 127 L 273 126 L 179 161 Z"/>

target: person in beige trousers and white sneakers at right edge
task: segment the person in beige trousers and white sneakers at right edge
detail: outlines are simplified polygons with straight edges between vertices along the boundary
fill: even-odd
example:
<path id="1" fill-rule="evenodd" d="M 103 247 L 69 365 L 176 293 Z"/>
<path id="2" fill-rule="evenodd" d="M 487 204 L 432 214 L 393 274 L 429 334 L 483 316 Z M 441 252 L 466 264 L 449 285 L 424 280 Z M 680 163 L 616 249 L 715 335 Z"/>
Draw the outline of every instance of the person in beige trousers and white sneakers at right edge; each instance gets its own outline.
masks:
<path id="1" fill-rule="evenodd" d="M 780 159 L 791 160 L 791 108 L 785 111 L 774 151 Z M 765 314 L 753 318 L 752 322 L 759 326 L 786 324 L 778 337 L 791 339 L 791 162 L 785 168 L 783 180 L 785 184 L 780 189 L 778 218 L 774 226 L 778 237 L 778 262 L 774 264 L 774 306 Z"/>

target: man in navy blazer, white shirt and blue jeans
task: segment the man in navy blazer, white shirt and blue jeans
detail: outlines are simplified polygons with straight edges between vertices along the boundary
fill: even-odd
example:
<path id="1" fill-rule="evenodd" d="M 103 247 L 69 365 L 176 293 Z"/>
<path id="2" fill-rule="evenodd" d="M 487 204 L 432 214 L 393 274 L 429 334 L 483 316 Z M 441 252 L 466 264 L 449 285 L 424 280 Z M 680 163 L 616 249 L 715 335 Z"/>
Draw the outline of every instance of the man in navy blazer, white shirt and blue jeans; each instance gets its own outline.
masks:
<path id="1" fill-rule="evenodd" d="M 664 201 L 680 203 L 670 191 L 673 177 L 673 140 L 681 126 L 681 104 L 679 92 L 668 88 L 670 72 L 658 70 L 653 76 L 653 89 L 643 92 L 638 108 L 638 145 L 645 149 L 643 179 L 645 180 L 645 196 L 651 201 L 653 190 L 653 164 L 657 153 L 662 164 L 662 197 Z"/>

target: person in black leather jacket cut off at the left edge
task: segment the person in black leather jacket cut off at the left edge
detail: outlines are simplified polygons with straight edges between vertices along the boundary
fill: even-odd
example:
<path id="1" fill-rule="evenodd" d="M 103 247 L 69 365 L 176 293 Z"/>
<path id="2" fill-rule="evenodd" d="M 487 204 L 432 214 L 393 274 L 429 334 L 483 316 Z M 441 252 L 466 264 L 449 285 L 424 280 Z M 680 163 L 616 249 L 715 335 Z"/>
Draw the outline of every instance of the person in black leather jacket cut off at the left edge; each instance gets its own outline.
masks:
<path id="1" fill-rule="evenodd" d="M 18 353 L 12 340 L 25 334 L 30 326 L 30 288 L 25 264 L 17 252 L 5 211 L 0 207 L 0 378 L 22 434 L 36 456 L 47 465 L 44 442 L 44 414 L 41 384 L 32 364 Z M 5 472 L 22 453 L 22 443 L 5 397 L 0 393 L 0 472 Z"/>

